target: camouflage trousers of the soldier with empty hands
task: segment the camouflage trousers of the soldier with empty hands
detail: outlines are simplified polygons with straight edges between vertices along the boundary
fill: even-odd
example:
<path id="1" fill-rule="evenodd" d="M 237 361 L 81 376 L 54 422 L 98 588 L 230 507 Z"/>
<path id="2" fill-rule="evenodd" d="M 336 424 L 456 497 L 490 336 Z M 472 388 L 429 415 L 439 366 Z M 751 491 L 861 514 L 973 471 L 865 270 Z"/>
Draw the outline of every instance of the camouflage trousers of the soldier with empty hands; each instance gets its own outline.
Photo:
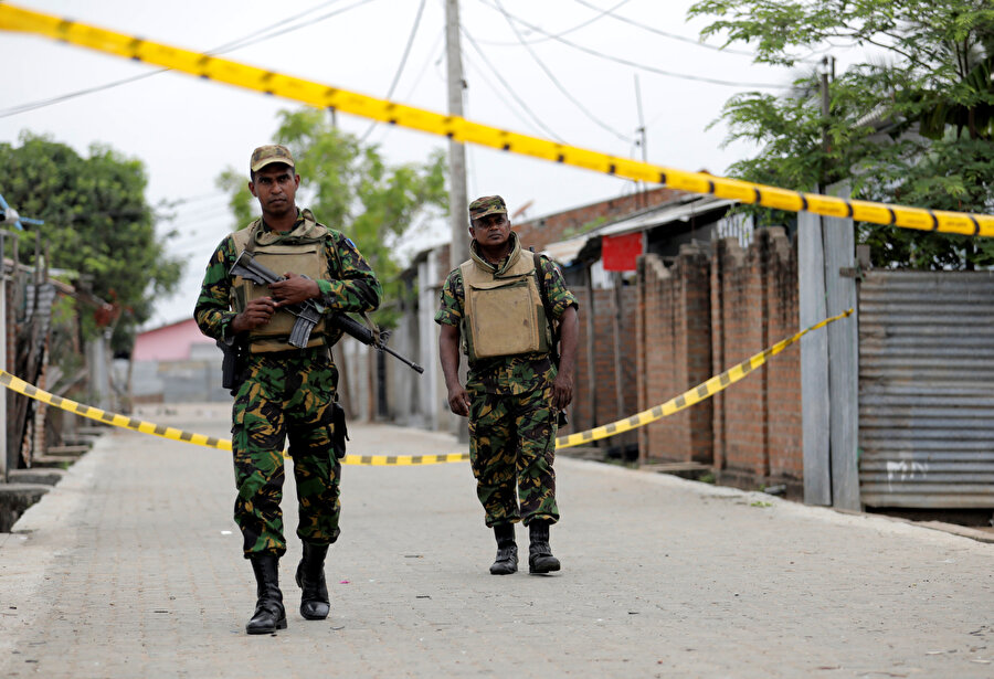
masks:
<path id="1" fill-rule="evenodd" d="M 469 397 L 469 464 L 487 526 L 557 522 L 552 386 L 515 396 L 470 390 Z"/>

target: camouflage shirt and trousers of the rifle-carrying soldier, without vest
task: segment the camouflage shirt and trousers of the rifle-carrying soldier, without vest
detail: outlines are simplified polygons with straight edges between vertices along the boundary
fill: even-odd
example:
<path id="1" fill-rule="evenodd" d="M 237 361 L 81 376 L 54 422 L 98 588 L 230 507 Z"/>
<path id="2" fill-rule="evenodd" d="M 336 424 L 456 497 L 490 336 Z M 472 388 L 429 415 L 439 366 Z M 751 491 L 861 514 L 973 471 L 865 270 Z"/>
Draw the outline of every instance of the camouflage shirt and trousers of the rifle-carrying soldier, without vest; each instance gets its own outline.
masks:
<path id="1" fill-rule="evenodd" d="M 297 226 L 302 223 L 298 211 Z M 296 226 L 295 226 L 296 227 Z M 271 232 L 265 222 L 264 232 Z M 201 331 L 214 339 L 233 341 L 229 270 L 237 253 L 231 236 L 221 242 L 208 264 L 194 318 Z M 328 275 L 318 280 L 321 304 L 330 311 L 369 311 L 381 295 L 369 264 L 349 238 L 328 230 L 325 253 Z M 328 347 L 341 337 L 334 331 Z M 332 407 L 338 369 L 326 347 L 247 353 L 244 381 L 232 409 L 234 457 L 234 518 L 243 537 L 245 558 L 286 552 L 279 501 L 285 478 L 284 442 L 289 439 L 297 484 L 299 523 L 305 542 L 328 544 L 338 539 L 341 464 L 331 448 Z"/>

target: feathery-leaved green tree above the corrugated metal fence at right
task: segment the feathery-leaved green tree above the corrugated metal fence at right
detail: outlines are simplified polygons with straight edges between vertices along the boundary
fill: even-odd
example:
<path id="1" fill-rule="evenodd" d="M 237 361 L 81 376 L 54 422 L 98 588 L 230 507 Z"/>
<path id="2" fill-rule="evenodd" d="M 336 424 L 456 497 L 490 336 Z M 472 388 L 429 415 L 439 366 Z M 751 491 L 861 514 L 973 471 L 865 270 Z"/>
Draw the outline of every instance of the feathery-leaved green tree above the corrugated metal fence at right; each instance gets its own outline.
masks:
<path id="1" fill-rule="evenodd" d="M 761 147 L 732 174 L 797 190 L 840 179 L 854 198 L 938 210 L 994 209 L 994 6 L 990 0 L 702 0 L 702 35 L 749 43 L 755 61 L 795 66 L 812 50 L 863 47 L 831 84 L 807 64 L 783 97 L 749 92 L 722 112 L 729 141 Z M 827 148 L 823 147 L 823 134 Z M 782 215 L 774 215 L 779 219 Z M 859 224 L 878 265 L 994 264 L 986 238 Z"/>

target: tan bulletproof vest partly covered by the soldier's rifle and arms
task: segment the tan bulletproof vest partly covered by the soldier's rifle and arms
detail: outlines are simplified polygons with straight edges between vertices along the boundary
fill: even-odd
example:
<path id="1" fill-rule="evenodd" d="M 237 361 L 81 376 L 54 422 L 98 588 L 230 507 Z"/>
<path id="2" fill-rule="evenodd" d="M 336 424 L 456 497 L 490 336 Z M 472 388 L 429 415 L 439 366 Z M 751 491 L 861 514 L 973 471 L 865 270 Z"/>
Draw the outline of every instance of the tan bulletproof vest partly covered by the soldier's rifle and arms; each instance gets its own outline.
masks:
<path id="1" fill-rule="evenodd" d="M 293 272 L 318 280 L 327 276 L 328 258 L 325 256 L 324 236 L 328 230 L 315 222 L 309 210 L 303 210 L 303 222 L 288 233 L 264 231 L 262 221 L 256 220 L 242 231 L 232 234 L 235 256 L 248 250 L 255 259 L 282 276 Z M 235 276 L 231 285 L 231 307 L 242 311 L 247 304 L 260 297 L 269 297 L 268 286 L 257 285 L 252 280 Z M 297 349 L 287 340 L 297 317 L 285 309 L 277 309 L 269 322 L 248 331 L 248 349 L 252 353 L 266 351 L 286 351 Z M 325 320 L 321 319 L 310 331 L 307 347 L 319 347 L 325 343 Z"/>

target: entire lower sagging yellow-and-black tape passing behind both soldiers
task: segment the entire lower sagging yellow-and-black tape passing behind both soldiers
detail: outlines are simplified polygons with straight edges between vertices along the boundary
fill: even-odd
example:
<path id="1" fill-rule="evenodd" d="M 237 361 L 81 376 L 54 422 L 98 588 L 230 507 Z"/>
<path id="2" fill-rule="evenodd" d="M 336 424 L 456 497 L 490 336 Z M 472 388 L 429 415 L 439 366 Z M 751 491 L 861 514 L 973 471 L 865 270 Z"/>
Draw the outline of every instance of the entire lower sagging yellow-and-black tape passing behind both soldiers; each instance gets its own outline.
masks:
<path id="1" fill-rule="evenodd" d="M 645 426 L 656 420 L 660 420 L 668 415 L 673 415 L 674 413 L 678 413 L 679 411 L 694 405 L 695 403 L 700 403 L 706 399 L 710 399 L 715 394 L 720 391 L 728 389 L 730 385 L 734 384 L 739 380 L 745 378 L 745 375 L 750 374 L 757 368 L 763 365 L 772 356 L 776 356 L 806 333 L 817 330 L 819 328 L 824 328 L 828 323 L 836 321 L 840 318 L 845 318 L 853 314 L 853 309 L 847 309 L 837 316 L 832 316 L 831 318 L 826 318 L 825 320 L 811 326 L 810 328 L 805 328 L 801 330 L 796 335 L 789 337 L 784 340 L 781 340 L 764 349 L 763 351 L 757 353 L 755 356 L 742 361 L 738 365 L 722 372 L 719 375 L 716 375 L 706 382 L 701 382 L 697 386 L 687 390 L 675 399 L 670 399 L 666 403 L 662 403 L 653 409 L 647 411 L 643 411 L 636 415 L 632 415 L 625 420 L 618 420 L 617 422 L 612 422 L 611 424 L 606 424 L 604 426 L 595 427 L 593 429 L 588 429 L 585 432 L 580 432 L 578 434 L 569 434 L 567 436 L 560 436 L 556 439 L 557 448 L 568 448 L 570 446 L 577 446 L 582 443 L 586 443 L 590 441 L 599 441 L 601 438 L 609 438 L 616 434 L 622 434 L 624 432 L 628 432 L 636 427 Z M 158 424 L 154 424 L 151 422 L 142 422 L 140 420 L 135 420 L 134 417 L 128 417 L 127 415 L 119 415 L 117 413 L 110 413 L 108 411 L 103 411 L 98 407 L 93 407 L 92 405 L 84 405 L 82 403 L 77 403 L 76 401 L 72 401 L 70 399 L 63 399 L 62 396 L 56 396 L 55 394 L 51 394 L 44 390 L 41 390 L 33 384 L 29 384 L 24 380 L 17 378 L 6 370 L 0 370 L 0 384 L 10 389 L 11 391 L 15 391 L 19 394 L 23 394 L 30 399 L 34 399 L 36 401 L 41 401 L 42 403 L 47 403 L 49 405 L 53 405 L 55 407 L 60 407 L 64 411 L 68 411 L 70 413 L 74 413 L 76 415 L 81 415 L 83 417 L 88 417 L 89 420 L 96 420 L 97 422 L 103 422 L 105 424 L 109 424 L 112 426 L 120 427 L 124 429 L 131 429 L 133 432 L 139 432 L 141 434 L 151 434 L 152 436 L 161 436 L 162 438 L 169 438 L 172 441 L 181 441 L 183 443 L 190 443 L 198 446 L 205 446 L 208 448 L 218 448 L 220 450 L 231 450 L 231 441 L 225 438 L 215 438 L 213 436 L 204 436 L 202 434 L 193 434 L 191 432 L 184 432 L 182 429 L 177 429 L 173 427 L 165 427 Z M 286 450 L 283 452 L 285 457 L 288 457 L 288 453 Z M 468 453 L 450 453 L 443 455 L 346 455 L 341 463 L 345 465 L 370 465 L 370 466 L 413 466 L 413 465 L 436 465 L 442 463 L 461 463 L 469 459 Z"/>

